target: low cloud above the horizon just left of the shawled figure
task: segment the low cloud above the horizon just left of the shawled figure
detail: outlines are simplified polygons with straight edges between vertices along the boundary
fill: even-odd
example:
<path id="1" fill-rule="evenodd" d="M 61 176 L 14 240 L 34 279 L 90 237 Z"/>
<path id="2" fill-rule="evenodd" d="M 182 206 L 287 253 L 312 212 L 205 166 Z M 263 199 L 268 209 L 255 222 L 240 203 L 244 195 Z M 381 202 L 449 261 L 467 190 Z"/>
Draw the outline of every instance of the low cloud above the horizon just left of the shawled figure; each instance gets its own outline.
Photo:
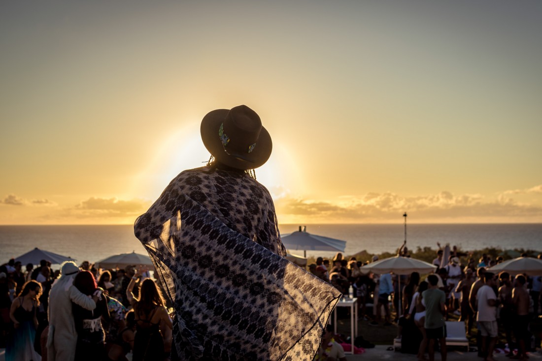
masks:
<path id="1" fill-rule="evenodd" d="M 144 200 L 119 200 L 117 198 L 91 197 L 81 201 L 66 211 L 77 218 L 86 217 L 126 217 L 140 215 L 149 208 L 150 202 Z"/>

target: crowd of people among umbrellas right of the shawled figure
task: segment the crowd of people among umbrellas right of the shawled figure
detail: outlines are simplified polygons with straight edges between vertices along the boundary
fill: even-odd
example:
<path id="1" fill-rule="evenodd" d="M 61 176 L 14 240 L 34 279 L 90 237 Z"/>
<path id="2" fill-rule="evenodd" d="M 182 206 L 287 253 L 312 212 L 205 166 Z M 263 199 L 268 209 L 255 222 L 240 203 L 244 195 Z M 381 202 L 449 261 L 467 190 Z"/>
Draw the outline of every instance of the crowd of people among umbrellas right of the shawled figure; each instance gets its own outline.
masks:
<path id="1" fill-rule="evenodd" d="M 409 257 L 403 247 L 399 253 Z M 414 353 L 420 360 L 427 354 L 433 359 L 436 349 L 440 349 L 442 359 L 446 360 L 447 320 L 464 321 L 469 337 L 478 330 L 478 355 L 485 360 L 493 359 L 499 334 L 505 335 L 502 344 L 508 357 L 526 359 L 532 336 L 530 323 L 540 314 L 541 277 L 522 274 L 513 277 L 508 272 L 487 271 L 502 262 L 502 257 L 492 260 L 483 254 L 475 262 L 453 247 L 448 261 L 443 262 L 443 254 L 439 248 L 433 260 L 436 270 L 423 280 L 418 272 L 400 276 L 373 274 L 364 270 L 369 262 L 346 260 L 341 253 L 332 260 L 319 257 L 308 268 L 344 295 L 353 293 L 358 298 L 358 315 L 369 321 L 368 325 L 379 326 L 382 321 L 383 326 L 396 323 L 402 352 Z M 377 256 L 372 259 L 377 260 Z M 371 304 L 372 312 L 367 310 Z M 395 312 L 391 312 L 391 307 Z M 399 307 L 401 311 L 397 312 Z"/>

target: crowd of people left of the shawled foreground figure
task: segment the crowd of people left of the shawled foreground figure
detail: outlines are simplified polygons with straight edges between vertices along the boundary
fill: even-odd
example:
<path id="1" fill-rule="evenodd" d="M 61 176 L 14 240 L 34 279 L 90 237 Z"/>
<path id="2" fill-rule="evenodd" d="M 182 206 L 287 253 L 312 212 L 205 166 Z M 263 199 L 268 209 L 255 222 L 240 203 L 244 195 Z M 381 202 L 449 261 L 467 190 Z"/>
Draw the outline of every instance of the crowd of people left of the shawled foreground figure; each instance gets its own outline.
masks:
<path id="1" fill-rule="evenodd" d="M 0 347 L 6 360 L 167 360 L 172 321 L 148 268 L 98 270 L 64 262 L 51 271 L 0 266 Z"/>

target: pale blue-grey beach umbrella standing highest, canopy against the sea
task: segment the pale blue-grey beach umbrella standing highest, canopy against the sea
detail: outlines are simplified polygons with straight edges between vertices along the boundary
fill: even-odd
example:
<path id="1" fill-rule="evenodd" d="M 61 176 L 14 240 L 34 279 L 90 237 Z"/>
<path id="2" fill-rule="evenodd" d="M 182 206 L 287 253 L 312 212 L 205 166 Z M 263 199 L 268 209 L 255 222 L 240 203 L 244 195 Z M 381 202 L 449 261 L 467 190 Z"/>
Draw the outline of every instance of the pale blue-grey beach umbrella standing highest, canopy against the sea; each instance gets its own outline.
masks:
<path id="1" fill-rule="evenodd" d="M 281 235 L 282 244 L 287 250 L 304 252 L 307 257 L 307 251 L 335 251 L 344 252 L 346 241 L 324 237 L 306 232 L 305 227 L 299 227 L 299 231 Z"/>

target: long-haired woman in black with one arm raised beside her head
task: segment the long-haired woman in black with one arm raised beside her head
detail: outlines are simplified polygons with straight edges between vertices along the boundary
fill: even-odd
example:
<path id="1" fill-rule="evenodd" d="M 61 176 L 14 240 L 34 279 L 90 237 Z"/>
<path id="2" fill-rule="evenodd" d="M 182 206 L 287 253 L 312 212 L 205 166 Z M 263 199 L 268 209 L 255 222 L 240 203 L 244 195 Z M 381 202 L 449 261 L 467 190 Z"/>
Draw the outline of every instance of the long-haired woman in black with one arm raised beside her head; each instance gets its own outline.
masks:
<path id="1" fill-rule="evenodd" d="M 139 288 L 139 298 L 133 294 L 135 280 L 141 277 L 142 270 L 138 268 L 126 290 L 128 301 L 133 307 L 135 315 L 135 342 L 133 361 L 163 360 L 165 353 L 165 330 L 160 332 L 160 323 L 171 329 L 172 322 L 165 308 L 162 293 L 156 283 L 150 278 L 145 279 Z"/>

